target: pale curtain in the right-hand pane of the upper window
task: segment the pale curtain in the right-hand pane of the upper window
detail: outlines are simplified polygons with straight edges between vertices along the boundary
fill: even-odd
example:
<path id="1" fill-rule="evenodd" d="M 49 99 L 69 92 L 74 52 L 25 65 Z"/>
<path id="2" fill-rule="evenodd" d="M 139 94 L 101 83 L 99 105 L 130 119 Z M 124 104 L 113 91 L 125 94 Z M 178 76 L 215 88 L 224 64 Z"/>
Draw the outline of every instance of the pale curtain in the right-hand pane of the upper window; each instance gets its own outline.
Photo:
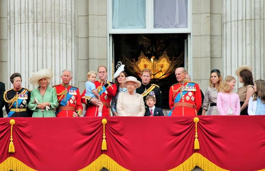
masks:
<path id="1" fill-rule="evenodd" d="M 154 0 L 154 28 L 188 27 L 188 0 Z"/>

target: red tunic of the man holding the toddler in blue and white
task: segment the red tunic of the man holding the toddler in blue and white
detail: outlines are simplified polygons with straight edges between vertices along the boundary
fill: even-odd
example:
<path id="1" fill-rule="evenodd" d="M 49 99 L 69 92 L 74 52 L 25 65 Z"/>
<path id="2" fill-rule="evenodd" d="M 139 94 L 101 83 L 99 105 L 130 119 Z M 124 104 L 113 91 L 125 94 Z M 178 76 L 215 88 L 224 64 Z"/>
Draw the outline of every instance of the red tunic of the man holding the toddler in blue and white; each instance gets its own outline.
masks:
<path id="1" fill-rule="evenodd" d="M 100 95 L 100 100 L 103 103 L 102 116 L 110 116 L 110 101 L 113 96 L 116 95 L 117 85 L 111 82 L 107 82 L 105 85 L 101 83 L 101 80 L 95 82 L 97 93 Z M 91 97 L 85 96 L 86 90 L 82 93 L 81 101 L 84 104 L 88 104 L 88 100 Z M 85 116 L 97 116 L 98 107 L 95 105 L 89 105 Z"/>

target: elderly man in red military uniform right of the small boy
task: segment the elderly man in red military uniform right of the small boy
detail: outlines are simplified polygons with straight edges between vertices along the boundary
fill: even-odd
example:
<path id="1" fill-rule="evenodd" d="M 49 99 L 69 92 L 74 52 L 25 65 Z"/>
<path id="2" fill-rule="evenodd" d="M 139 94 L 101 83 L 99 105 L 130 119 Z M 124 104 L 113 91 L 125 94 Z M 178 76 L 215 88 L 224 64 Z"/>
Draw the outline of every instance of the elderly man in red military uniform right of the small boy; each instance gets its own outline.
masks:
<path id="1" fill-rule="evenodd" d="M 175 70 L 178 83 L 169 89 L 169 116 L 194 116 L 201 107 L 199 85 L 190 82 L 184 67 Z"/>

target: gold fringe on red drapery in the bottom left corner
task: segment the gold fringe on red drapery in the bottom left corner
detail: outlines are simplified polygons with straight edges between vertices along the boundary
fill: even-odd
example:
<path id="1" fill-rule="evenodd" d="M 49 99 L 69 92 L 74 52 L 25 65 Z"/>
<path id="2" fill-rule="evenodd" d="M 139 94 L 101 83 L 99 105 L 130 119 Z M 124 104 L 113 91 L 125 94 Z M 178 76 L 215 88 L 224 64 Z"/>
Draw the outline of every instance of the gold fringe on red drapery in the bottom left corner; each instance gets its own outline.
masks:
<path id="1" fill-rule="evenodd" d="M 0 163 L 0 171 L 36 171 L 14 157 L 8 157 Z"/>

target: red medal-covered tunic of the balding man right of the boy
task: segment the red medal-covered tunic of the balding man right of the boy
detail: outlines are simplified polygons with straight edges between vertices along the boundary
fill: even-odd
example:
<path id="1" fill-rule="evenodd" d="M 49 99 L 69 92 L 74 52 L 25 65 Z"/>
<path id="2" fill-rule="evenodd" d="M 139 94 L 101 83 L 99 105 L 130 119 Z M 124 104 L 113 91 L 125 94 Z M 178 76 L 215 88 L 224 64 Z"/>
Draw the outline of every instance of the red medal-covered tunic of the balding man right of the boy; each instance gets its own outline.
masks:
<path id="1" fill-rule="evenodd" d="M 184 80 L 183 83 L 171 85 L 169 89 L 169 107 L 171 116 L 194 116 L 195 109 L 192 107 L 174 107 L 174 103 L 186 102 L 196 105 L 198 111 L 201 107 L 201 92 L 198 84 Z"/>

